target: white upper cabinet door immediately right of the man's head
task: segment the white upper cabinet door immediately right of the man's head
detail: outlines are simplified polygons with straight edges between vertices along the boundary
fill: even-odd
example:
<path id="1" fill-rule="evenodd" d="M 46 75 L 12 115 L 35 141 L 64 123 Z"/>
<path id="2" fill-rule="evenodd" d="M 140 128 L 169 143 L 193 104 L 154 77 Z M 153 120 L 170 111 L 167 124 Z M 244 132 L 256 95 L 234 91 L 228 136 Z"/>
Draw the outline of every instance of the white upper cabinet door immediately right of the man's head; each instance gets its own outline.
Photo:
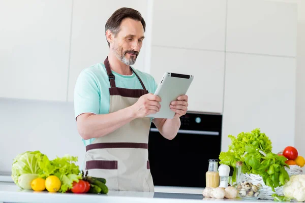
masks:
<path id="1" fill-rule="evenodd" d="M 225 50 L 225 0 L 154 0 L 152 45 Z"/>

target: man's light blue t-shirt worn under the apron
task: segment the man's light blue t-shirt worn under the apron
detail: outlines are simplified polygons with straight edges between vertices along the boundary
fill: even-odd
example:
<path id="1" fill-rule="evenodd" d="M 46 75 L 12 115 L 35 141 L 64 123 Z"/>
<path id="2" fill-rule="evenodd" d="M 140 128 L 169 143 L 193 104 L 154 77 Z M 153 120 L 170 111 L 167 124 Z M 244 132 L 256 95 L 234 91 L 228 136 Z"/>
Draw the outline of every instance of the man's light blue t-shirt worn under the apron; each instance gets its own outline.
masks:
<path id="1" fill-rule="evenodd" d="M 155 93 L 157 84 L 153 76 L 133 69 L 149 93 Z M 115 86 L 128 89 L 143 89 L 139 79 L 133 73 L 124 76 L 112 71 Z M 108 114 L 110 106 L 110 82 L 103 63 L 97 63 L 82 70 L 77 78 L 74 89 L 75 118 L 82 113 Z M 151 119 L 150 119 L 151 121 Z M 91 144 L 95 139 L 82 140 L 84 145 Z"/>

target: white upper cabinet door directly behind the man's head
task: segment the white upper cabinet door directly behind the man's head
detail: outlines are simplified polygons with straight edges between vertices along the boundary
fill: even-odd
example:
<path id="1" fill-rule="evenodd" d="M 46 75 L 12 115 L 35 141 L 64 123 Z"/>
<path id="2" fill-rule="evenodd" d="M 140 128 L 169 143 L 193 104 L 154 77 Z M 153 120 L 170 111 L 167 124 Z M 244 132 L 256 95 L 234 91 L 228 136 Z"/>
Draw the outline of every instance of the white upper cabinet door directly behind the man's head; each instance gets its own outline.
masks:
<path id="1" fill-rule="evenodd" d="M 74 1 L 68 101 L 73 101 L 79 73 L 86 67 L 104 62 L 107 57 L 109 47 L 105 37 L 105 23 L 112 13 L 121 7 L 138 10 L 146 21 L 146 1 Z M 144 50 L 145 40 L 137 62 L 133 65 L 141 71 L 144 70 Z"/>

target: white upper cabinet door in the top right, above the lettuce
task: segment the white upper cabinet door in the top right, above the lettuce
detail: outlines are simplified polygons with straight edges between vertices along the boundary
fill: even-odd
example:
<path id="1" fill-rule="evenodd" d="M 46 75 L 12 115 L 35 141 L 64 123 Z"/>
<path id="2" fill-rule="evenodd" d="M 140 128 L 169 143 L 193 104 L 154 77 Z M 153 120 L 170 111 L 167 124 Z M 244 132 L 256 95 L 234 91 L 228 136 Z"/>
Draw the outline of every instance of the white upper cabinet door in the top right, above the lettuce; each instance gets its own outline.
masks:
<path id="1" fill-rule="evenodd" d="M 296 56 L 297 6 L 263 0 L 228 0 L 228 52 Z"/>

